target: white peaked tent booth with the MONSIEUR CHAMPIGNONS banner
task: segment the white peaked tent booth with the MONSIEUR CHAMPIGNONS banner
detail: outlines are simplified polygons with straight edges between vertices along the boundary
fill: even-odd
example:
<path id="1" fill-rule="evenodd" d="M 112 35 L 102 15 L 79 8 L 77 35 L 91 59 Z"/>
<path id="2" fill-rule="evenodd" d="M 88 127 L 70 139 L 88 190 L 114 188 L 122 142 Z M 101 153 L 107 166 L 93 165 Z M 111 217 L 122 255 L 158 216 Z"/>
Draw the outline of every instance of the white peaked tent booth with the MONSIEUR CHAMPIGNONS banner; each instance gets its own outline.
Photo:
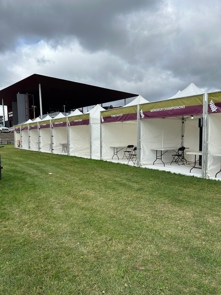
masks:
<path id="1" fill-rule="evenodd" d="M 174 96 L 164 101 L 140 105 L 141 166 L 153 165 L 157 153 L 160 154 L 163 148 L 173 147 L 176 150 L 175 148 L 184 146 L 188 148 L 185 150 L 185 158 L 191 162 L 194 161 L 194 155 L 188 155 L 186 152 L 200 150 L 202 129 L 199 128 L 199 119 L 204 114 L 205 93 L 192 83 Z M 168 150 L 163 155 L 164 163 L 170 164 L 174 150 Z M 163 163 L 158 159 L 154 165 L 158 164 Z M 205 173 L 205 170 L 202 170 L 202 173 Z"/>

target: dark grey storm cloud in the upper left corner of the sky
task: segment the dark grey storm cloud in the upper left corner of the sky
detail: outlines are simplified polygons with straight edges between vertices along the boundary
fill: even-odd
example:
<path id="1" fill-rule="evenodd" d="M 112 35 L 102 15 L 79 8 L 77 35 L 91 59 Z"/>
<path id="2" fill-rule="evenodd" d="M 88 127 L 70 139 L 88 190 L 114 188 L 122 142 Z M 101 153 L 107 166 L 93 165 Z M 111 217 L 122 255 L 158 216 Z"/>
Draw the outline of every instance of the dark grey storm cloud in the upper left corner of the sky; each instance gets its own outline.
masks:
<path id="1" fill-rule="evenodd" d="M 0 2 L 0 50 L 19 38 L 27 42 L 76 36 L 86 48 L 98 50 L 122 44 L 126 37 L 120 15 L 142 9 L 154 11 L 152 0 L 5 0 Z M 56 43 L 57 42 L 57 43 Z"/>

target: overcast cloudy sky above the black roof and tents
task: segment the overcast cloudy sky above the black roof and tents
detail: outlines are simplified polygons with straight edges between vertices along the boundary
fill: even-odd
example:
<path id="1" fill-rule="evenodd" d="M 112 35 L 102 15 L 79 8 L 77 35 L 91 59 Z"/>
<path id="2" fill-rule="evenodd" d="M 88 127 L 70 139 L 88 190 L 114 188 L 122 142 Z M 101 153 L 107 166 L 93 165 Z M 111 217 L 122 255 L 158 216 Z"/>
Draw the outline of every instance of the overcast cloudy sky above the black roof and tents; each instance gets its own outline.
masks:
<path id="1" fill-rule="evenodd" d="M 221 89 L 220 0 L 0 0 L 0 89 L 32 74 L 166 99 Z"/>

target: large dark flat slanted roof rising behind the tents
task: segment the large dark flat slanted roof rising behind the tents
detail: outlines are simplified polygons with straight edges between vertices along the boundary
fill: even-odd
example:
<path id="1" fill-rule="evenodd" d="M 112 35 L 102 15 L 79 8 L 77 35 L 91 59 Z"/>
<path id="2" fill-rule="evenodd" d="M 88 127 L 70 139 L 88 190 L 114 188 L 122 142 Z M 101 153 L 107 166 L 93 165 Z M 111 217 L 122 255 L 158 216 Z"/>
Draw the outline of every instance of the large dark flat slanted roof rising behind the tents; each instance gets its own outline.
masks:
<path id="1" fill-rule="evenodd" d="M 28 93 L 34 96 L 34 105 L 36 105 L 39 112 L 39 84 L 41 84 L 43 114 L 62 111 L 63 105 L 65 105 L 65 110 L 69 111 L 138 96 L 135 93 L 33 74 L 0 90 L 0 102 L 3 98 L 4 105 L 11 106 L 13 101 L 17 101 L 18 92 Z"/>

